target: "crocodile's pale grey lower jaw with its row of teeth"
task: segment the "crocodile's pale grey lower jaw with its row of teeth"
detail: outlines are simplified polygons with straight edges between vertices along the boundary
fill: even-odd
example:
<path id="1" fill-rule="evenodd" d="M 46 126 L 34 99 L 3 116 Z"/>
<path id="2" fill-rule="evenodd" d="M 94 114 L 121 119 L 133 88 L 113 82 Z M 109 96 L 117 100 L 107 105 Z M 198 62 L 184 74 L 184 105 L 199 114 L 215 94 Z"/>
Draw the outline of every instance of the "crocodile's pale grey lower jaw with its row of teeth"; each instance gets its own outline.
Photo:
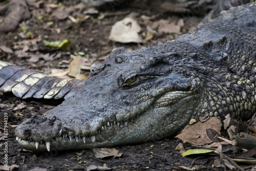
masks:
<path id="1" fill-rule="evenodd" d="M 172 136 L 189 121 L 199 94 L 193 92 L 168 92 L 154 101 L 145 112 L 134 119 L 124 122 L 111 122 L 97 130 L 93 136 L 68 136 L 57 134 L 52 140 L 40 141 L 17 138 L 18 143 L 25 149 L 34 152 L 61 151 L 70 149 L 90 149 L 93 147 L 111 147 L 123 144 L 141 143 Z M 166 96 L 180 95 L 181 99 L 175 103 L 161 103 Z M 180 108 L 180 106 L 184 106 Z M 161 111 L 159 114 L 158 111 Z M 48 119 L 49 120 L 49 119 Z M 58 121 L 58 120 L 57 120 Z M 25 124 L 26 125 L 26 124 Z M 64 125 L 64 124 L 62 124 Z M 16 135 L 18 131 L 15 130 Z M 59 130 L 59 131 L 60 131 Z M 30 141 L 29 141 L 30 139 Z M 37 143 L 37 144 L 36 144 Z"/>

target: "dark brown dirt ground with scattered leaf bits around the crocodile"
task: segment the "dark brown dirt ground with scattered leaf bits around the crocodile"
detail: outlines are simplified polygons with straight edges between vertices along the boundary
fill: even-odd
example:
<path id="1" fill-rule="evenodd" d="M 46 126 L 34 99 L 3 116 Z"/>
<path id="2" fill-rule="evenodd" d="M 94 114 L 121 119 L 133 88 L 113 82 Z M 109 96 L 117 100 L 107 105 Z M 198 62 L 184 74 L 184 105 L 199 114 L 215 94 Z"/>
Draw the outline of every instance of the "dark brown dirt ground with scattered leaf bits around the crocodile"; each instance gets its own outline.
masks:
<path id="1" fill-rule="evenodd" d="M 52 7 L 47 7 L 51 4 Z M 131 9 L 116 7 L 115 11 L 106 6 L 103 9 L 93 9 L 84 7 L 73 10 L 70 15 L 73 17 L 87 15 L 88 18 L 82 22 L 73 23 L 68 17 L 60 19 L 53 17 L 53 13 L 59 7 L 54 5 L 73 7 L 79 4 L 79 1 L 46 1 L 29 7 L 31 12 L 30 19 L 22 22 L 18 28 L 9 33 L 0 33 L 0 46 L 6 46 L 13 50 L 13 53 L 0 52 L 0 60 L 14 63 L 28 69 L 33 69 L 42 73 L 49 74 L 52 68 L 66 69 L 71 61 L 70 54 L 84 52 L 83 57 L 95 63 L 101 63 L 104 56 L 108 55 L 113 49 L 124 46 L 129 50 L 140 49 L 142 46 L 156 45 L 157 41 L 165 42 L 175 39 L 178 35 L 188 32 L 195 28 L 202 16 L 195 16 L 189 20 L 183 20 L 180 14 L 157 13 L 147 9 Z M 87 11 L 87 12 L 84 12 Z M 142 35 L 153 29 L 152 37 L 141 44 L 120 44 L 109 40 L 112 26 L 126 16 L 134 17 L 142 28 Z M 144 16 L 144 17 L 142 17 Z M 4 16 L 1 16 L 4 19 Z M 0 17 L 0 19 L 1 19 Z M 145 19 L 146 18 L 146 19 Z M 154 29 L 154 23 L 159 20 L 168 20 L 180 27 L 180 33 L 158 32 Z M 41 41 L 36 44 L 30 44 L 28 47 L 19 44 L 23 40 L 31 40 L 41 36 L 42 40 L 56 41 L 68 39 L 72 42 L 71 49 L 53 49 L 46 47 Z M 16 47 L 15 47 L 16 46 Z M 27 48 L 24 50 L 24 48 Z M 16 52 L 16 53 L 15 53 Z M 44 58 L 40 55 L 49 53 L 61 56 L 54 58 Z M 35 57 L 38 56 L 39 57 Z M 82 70 L 82 73 L 88 75 L 88 70 Z M 93 149 L 87 151 L 64 151 L 57 153 L 38 153 L 22 149 L 15 141 L 14 129 L 32 115 L 41 115 L 51 109 L 57 103 L 44 100 L 21 100 L 12 94 L 1 94 L 0 101 L 2 110 L 8 110 L 13 113 L 8 126 L 8 165 L 17 165 L 14 170 L 90 170 L 90 165 L 103 166 L 106 164 L 113 170 L 181 170 L 180 166 L 196 166 L 201 170 L 212 170 L 211 156 L 207 157 L 181 157 L 175 151 L 180 140 L 175 138 L 164 139 L 154 142 L 145 142 L 143 144 L 134 144 L 119 146 L 116 149 L 123 153 L 121 157 L 109 157 L 97 159 L 94 156 Z M 4 124 L 0 123 L 0 130 L 3 133 Z M 1 134 L 1 160 L 0 165 L 4 165 L 3 134 Z M 106 168 L 98 168 L 105 170 Z"/>

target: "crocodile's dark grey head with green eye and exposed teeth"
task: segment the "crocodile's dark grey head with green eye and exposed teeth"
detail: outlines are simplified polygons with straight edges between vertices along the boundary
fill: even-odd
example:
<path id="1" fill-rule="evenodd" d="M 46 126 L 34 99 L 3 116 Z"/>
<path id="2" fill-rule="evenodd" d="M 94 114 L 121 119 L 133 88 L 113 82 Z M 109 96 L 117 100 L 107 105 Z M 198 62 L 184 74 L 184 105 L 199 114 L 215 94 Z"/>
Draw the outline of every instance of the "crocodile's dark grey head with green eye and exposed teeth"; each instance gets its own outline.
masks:
<path id="1" fill-rule="evenodd" d="M 203 87 L 190 68 L 197 54 L 183 48 L 169 41 L 113 51 L 74 97 L 17 126 L 18 143 L 31 151 L 87 149 L 176 134 L 196 113 Z"/>

